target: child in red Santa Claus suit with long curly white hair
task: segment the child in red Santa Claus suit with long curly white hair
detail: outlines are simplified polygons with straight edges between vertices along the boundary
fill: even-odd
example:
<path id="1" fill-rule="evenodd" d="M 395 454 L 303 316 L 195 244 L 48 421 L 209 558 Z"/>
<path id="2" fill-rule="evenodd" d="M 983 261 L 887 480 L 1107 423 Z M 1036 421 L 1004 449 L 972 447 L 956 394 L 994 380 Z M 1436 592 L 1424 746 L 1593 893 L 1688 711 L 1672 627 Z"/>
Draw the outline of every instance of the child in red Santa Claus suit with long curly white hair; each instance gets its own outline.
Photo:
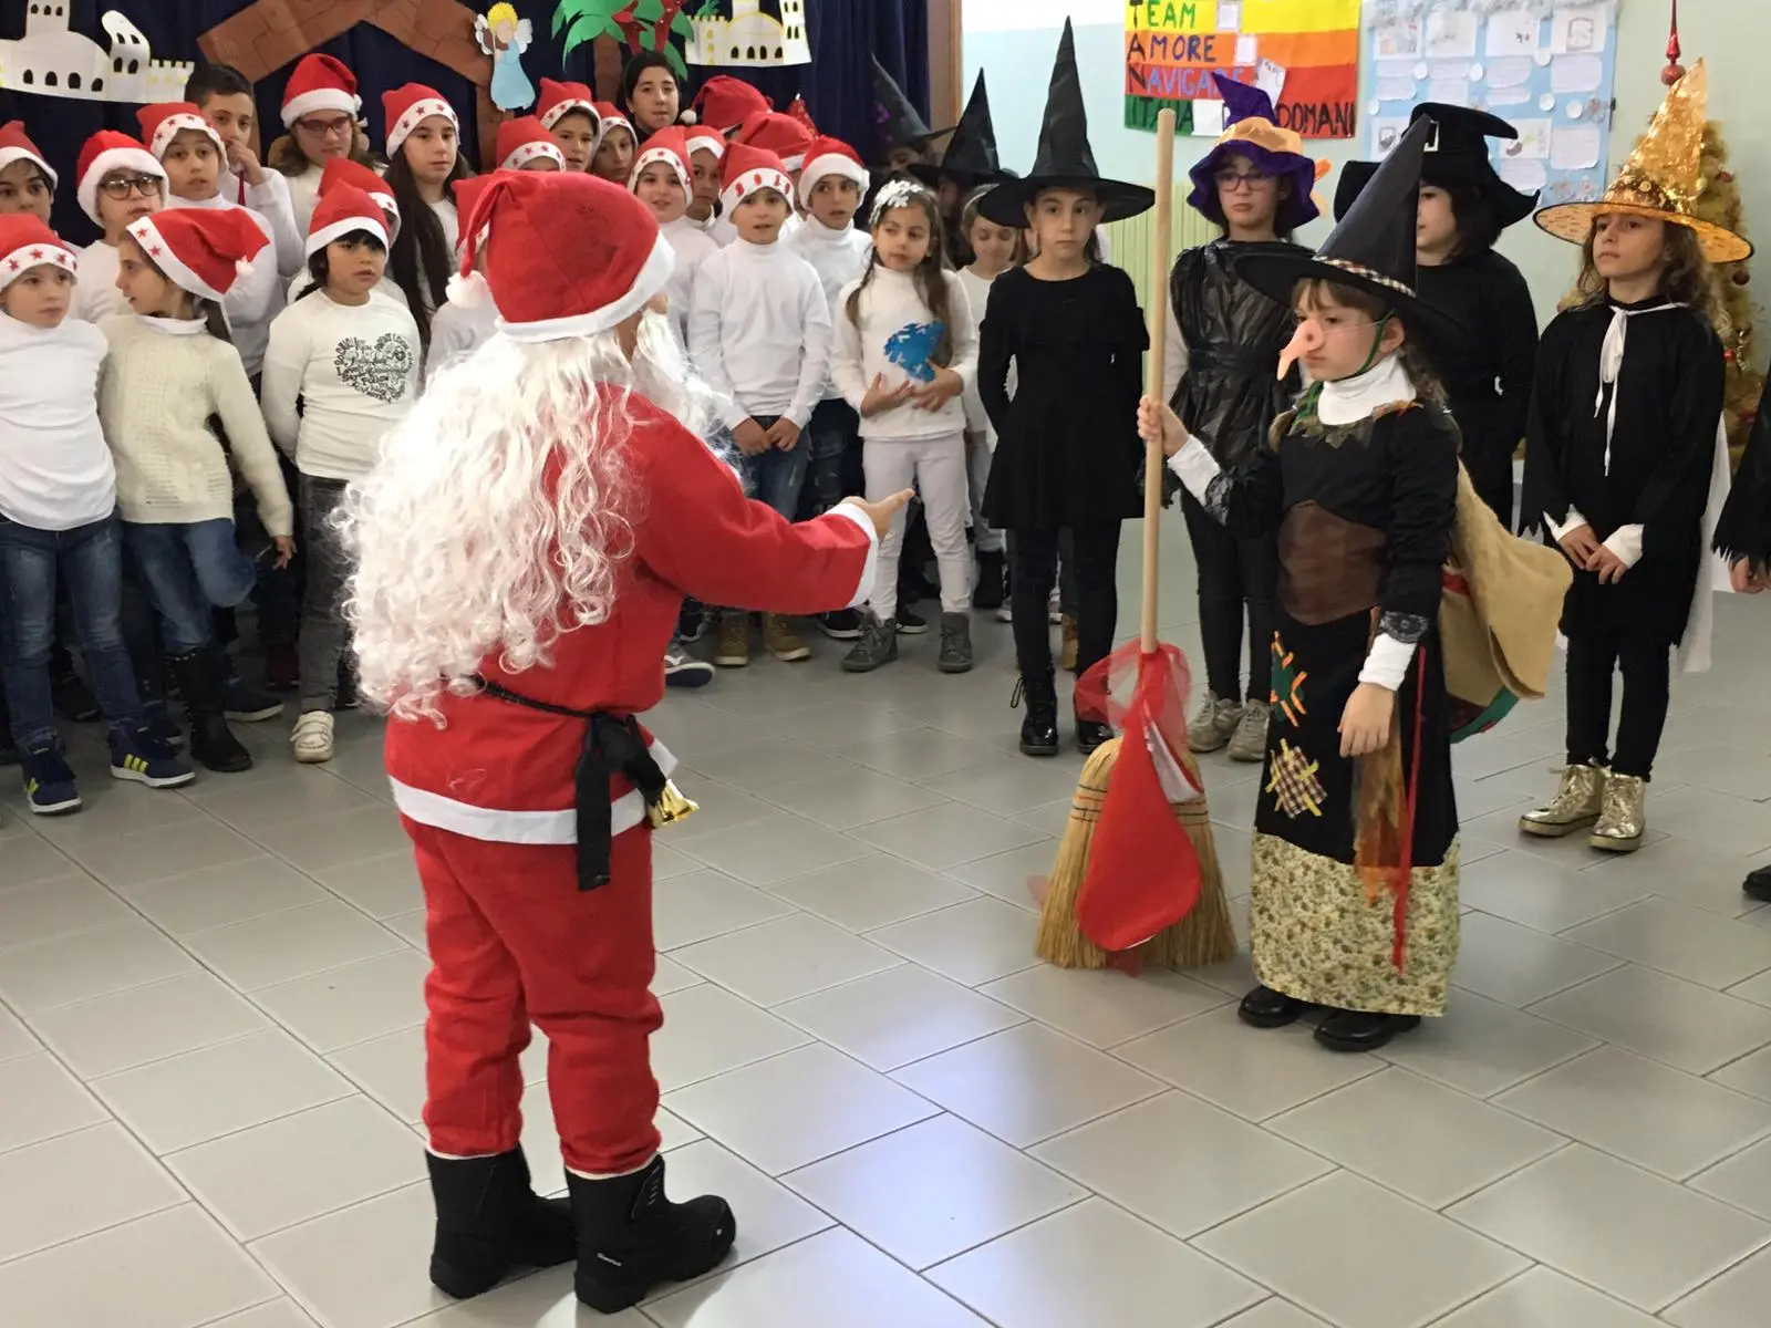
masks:
<path id="1" fill-rule="evenodd" d="M 471 1296 L 576 1255 L 579 1300 L 616 1312 L 710 1270 L 735 1231 L 723 1199 L 664 1197 L 652 823 L 675 761 L 636 715 L 685 593 L 859 604 L 889 515 L 790 526 L 691 432 L 705 391 L 653 299 L 671 248 L 625 189 L 499 174 L 462 234 L 499 335 L 388 434 L 349 513 L 361 685 L 391 710 L 429 912 L 430 1277 Z M 519 1146 L 531 1022 L 568 1201 L 531 1193 Z"/>

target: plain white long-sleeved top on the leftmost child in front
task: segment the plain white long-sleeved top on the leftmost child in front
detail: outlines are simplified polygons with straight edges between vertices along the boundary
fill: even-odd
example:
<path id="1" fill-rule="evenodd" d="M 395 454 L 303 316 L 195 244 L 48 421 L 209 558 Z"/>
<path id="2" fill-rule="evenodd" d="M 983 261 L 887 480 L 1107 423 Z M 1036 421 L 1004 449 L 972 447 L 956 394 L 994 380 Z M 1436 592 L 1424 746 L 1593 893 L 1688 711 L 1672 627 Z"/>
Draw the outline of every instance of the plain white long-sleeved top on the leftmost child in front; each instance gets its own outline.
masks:
<path id="1" fill-rule="evenodd" d="M 108 351 L 104 333 L 74 317 L 32 328 L 0 315 L 0 517 L 73 529 L 115 510 L 97 397 Z"/>

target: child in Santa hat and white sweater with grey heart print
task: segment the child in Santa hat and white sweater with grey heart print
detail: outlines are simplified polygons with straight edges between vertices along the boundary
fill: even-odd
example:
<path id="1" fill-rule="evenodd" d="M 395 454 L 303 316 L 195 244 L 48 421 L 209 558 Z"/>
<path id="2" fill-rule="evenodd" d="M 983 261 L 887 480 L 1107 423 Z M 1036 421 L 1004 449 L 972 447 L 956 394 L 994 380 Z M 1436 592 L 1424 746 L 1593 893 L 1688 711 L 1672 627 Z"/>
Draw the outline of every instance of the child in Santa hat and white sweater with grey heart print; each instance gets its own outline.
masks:
<path id="1" fill-rule="evenodd" d="M 344 584 L 351 574 L 333 524 L 345 485 L 374 469 L 381 437 L 418 395 L 418 324 L 375 287 L 388 264 L 381 205 L 336 186 L 313 212 L 308 292 L 271 324 L 264 354 L 264 421 L 296 460 L 308 584 L 301 609 L 298 761 L 328 761 L 338 668 L 345 650 Z M 301 409 L 298 413 L 296 402 Z"/>

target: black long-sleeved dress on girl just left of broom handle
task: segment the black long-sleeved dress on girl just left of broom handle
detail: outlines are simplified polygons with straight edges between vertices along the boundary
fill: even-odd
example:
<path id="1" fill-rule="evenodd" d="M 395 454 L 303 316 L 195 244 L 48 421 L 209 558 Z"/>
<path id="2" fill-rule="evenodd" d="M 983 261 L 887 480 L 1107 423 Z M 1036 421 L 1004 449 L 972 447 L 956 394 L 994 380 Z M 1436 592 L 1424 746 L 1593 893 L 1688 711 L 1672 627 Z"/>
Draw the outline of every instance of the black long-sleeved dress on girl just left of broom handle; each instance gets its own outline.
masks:
<path id="1" fill-rule="evenodd" d="M 1118 267 L 1096 264 L 1068 282 L 1017 267 L 992 282 L 978 347 L 978 395 L 997 430 L 985 489 L 992 526 L 1086 529 L 1142 515 L 1148 345 L 1132 278 Z"/>

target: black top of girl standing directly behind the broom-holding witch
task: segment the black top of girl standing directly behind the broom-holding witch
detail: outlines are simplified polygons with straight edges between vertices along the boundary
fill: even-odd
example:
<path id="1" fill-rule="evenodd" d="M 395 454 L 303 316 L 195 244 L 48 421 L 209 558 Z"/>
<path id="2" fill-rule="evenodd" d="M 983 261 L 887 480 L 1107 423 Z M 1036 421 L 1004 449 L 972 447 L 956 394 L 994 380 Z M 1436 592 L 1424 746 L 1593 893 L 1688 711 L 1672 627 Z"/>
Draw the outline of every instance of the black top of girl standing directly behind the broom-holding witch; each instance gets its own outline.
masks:
<path id="1" fill-rule="evenodd" d="M 1512 453 L 1525 437 L 1537 359 L 1537 313 L 1525 276 L 1493 250 L 1420 267 L 1420 299 L 1458 319 L 1463 333 L 1417 333 L 1450 398 L 1463 464 L 1475 492 L 1512 524 Z"/>

